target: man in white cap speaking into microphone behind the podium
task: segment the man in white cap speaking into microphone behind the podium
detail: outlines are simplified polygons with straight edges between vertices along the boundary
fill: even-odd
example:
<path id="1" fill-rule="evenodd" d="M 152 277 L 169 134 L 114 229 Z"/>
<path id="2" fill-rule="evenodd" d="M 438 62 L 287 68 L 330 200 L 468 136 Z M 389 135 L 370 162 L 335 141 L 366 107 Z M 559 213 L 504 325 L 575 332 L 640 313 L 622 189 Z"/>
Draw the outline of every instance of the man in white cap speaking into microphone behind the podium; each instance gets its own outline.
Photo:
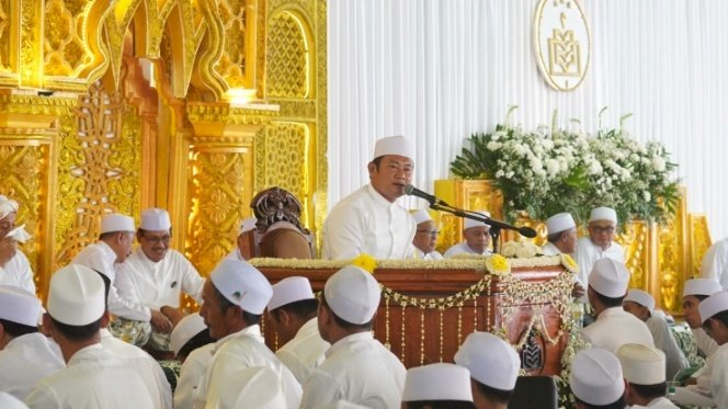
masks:
<path id="1" fill-rule="evenodd" d="M 323 225 L 325 259 L 410 259 L 414 219 L 397 203 L 412 181 L 414 147 L 402 136 L 379 139 L 368 163 L 369 184 L 342 198 Z"/>

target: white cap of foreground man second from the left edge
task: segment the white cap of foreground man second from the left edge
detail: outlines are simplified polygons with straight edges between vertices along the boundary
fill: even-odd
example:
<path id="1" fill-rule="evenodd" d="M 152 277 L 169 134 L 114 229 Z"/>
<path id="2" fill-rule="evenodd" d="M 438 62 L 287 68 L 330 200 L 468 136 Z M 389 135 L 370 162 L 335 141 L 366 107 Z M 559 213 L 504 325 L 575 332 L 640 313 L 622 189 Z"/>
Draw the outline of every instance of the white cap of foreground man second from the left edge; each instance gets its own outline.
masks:
<path id="1" fill-rule="evenodd" d="M 50 277 L 48 314 L 69 326 L 98 321 L 106 309 L 104 282 L 83 265 L 69 264 Z"/>

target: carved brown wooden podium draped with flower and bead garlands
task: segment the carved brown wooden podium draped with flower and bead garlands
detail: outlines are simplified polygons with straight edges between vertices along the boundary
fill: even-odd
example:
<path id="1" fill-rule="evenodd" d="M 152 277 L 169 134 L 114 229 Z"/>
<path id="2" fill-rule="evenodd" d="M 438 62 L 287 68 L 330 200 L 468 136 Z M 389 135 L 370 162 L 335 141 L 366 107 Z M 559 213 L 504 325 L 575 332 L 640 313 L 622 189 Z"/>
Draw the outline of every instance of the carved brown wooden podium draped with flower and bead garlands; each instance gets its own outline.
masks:
<path id="1" fill-rule="evenodd" d="M 500 258 L 500 255 L 498 255 Z M 505 260 L 501 258 L 501 260 Z M 570 260 L 570 259 L 569 259 Z M 375 337 L 405 366 L 453 362 L 474 330 L 501 336 L 516 348 L 527 375 L 558 375 L 571 322 L 576 264 L 560 257 L 512 259 L 510 272 L 492 274 L 486 259 L 379 261 L 374 276 L 383 296 Z M 272 284 L 300 275 L 315 292 L 345 262 L 253 259 Z M 263 321 L 272 350 L 276 337 Z"/>

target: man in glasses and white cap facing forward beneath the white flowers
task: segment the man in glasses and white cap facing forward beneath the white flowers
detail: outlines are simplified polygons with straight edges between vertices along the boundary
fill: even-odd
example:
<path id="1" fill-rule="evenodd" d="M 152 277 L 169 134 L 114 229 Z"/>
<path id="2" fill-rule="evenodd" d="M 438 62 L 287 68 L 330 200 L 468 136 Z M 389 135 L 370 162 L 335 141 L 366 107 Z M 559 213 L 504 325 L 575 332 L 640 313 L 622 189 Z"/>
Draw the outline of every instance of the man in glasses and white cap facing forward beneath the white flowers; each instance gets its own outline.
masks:
<path id="1" fill-rule="evenodd" d="M 614 242 L 617 231 L 617 213 L 610 207 L 596 207 L 589 217 L 589 237 L 577 241 L 577 264 L 579 282 L 589 283 L 589 273 L 596 260 L 610 258 L 625 263 L 624 249 Z"/>

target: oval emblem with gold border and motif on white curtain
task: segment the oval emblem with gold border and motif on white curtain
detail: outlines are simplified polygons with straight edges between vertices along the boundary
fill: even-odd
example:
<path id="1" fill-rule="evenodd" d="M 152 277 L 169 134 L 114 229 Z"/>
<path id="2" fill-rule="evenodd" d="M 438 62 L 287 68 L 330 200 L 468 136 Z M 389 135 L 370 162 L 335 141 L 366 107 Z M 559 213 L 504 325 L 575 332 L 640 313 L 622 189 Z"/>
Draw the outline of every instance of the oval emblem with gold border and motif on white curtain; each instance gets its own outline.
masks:
<path id="1" fill-rule="evenodd" d="M 579 0 L 541 0 L 533 20 L 538 70 L 558 91 L 571 91 L 589 69 L 591 37 Z"/>

